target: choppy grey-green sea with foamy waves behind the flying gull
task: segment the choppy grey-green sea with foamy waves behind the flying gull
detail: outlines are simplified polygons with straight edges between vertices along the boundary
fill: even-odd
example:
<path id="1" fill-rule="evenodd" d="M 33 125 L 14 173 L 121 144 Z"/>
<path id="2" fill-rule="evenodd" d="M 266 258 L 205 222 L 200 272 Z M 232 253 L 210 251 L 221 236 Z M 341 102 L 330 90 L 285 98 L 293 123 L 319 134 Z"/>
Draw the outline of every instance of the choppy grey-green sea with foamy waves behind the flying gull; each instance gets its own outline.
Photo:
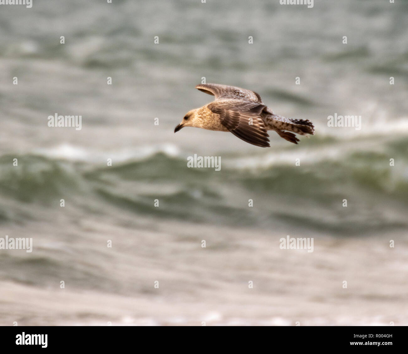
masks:
<path id="1" fill-rule="evenodd" d="M 0 238 L 33 239 L 0 250 L 1 325 L 408 324 L 407 2 L 0 10 Z M 316 135 L 174 134 L 213 99 L 203 78 Z M 82 128 L 49 127 L 55 113 Z M 194 154 L 221 170 L 188 168 Z M 280 249 L 286 235 L 313 252 Z"/>

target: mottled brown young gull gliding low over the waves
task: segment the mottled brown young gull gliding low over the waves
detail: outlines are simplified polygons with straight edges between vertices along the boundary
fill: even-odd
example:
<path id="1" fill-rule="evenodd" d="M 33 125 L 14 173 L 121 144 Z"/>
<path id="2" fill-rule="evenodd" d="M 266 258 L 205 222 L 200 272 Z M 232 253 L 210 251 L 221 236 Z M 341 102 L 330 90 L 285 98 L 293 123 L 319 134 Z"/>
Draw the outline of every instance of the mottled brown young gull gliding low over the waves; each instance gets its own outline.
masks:
<path id="1" fill-rule="evenodd" d="M 174 133 L 185 126 L 229 131 L 239 139 L 263 148 L 270 147 L 268 130 L 274 130 L 280 137 L 294 144 L 300 140 L 293 133 L 315 134 L 312 122 L 274 114 L 256 92 L 219 84 L 203 84 L 195 88 L 215 96 L 215 100 L 189 111 L 175 127 Z"/>

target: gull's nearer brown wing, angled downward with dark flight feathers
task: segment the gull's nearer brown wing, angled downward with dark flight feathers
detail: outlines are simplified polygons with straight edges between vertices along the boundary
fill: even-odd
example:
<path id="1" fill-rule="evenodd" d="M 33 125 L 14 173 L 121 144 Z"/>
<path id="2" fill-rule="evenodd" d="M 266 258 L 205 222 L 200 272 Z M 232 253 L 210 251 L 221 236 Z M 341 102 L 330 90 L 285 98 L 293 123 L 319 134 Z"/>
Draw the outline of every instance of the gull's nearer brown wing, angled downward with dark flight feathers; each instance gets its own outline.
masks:
<path id="1" fill-rule="evenodd" d="M 244 100 L 219 100 L 207 105 L 220 115 L 221 123 L 231 133 L 249 144 L 270 147 L 269 135 L 260 114 L 263 104 Z"/>

